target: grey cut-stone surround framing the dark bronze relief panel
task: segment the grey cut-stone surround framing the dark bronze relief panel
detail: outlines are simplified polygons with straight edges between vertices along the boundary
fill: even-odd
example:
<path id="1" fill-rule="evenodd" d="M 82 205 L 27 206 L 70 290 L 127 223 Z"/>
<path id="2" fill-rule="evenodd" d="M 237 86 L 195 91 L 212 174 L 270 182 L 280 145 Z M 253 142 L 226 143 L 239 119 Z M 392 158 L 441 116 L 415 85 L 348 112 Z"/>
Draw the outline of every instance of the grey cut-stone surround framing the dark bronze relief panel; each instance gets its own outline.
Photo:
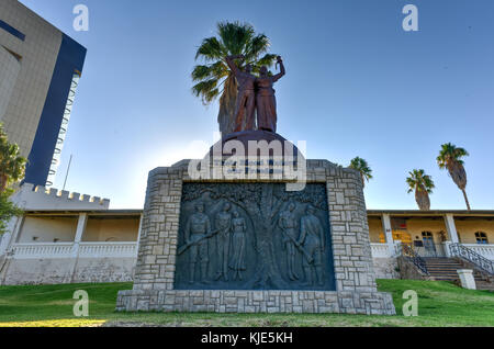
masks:
<path id="1" fill-rule="evenodd" d="M 307 160 L 306 167 L 307 182 L 326 183 L 327 188 L 337 292 L 323 292 L 324 296 L 317 300 L 318 306 L 307 306 L 303 312 L 319 312 L 321 308 L 345 313 L 366 309 L 366 314 L 394 314 L 391 295 L 377 292 L 366 203 L 359 173 L 327 160 Z M 201 308 L 211 305 L 209 302 L 212 300 L 209 296 L 192 299 L 192 292 L 198 291 L 173 290 L 179 213 L 184 181 L 201 181 L 192 180 L 188 176 L 188 161 L 181 161 L 169 168 L 157 168 L 149 172 L 134 289 L 119 293 L 116 307 L 119 311 L 176 311 L 179 309 L 179 305 L 165 306 L 167 305 L 165 296 L 177 296 L 177 294 L 183 294 L 180 296 L 182 304 L 183 302 L 189 302 L 188 304 L 195 302 L 194 305 L 202 305 Z M 269 181 L 287 182 L 287 179 L 270 179 Z M 221 182 L 228 182 L 228 180 L 223 179 Z M 229 182 L 243 182 L 243 180 L 235 179 Z M 254 295 L 260 296 L 260 294 L 265 296 L 265 292 L 268 292 L 267 294 L 270 296 L 279 294 L 281 291 L 221 292 L 233 292 L 232 294 L 247 292 L 246 294 L 251 294 L 254 297 Z M 311 291 L 290 292 L 291 295 L 288 296 L 288 300 L 292 302 L 295 297 L 300 301 L 311 294 L 315 295 Z M 326 297 L 326 294 L 330 296 Z M 233 297 L 237 299 L 237 309 L 240 308 L 238 306 L 242 304 L 240 297 L 244 299 L 245 304 L 245 296 Z M 351 302 L 348 301 L 350 299 Z M 220 297 L 220 300 L 222 299 Z M 257 311 L 263 309 L 262 302 L 270 302 L 269 299 L 262 300 L 256 308 Z M 359 301 L 356 302 L 356 300 Z M 364 300 L 372 300 L 375 308 L 363 306 Z M 226 306 L 224 301 L 215 302 L 214 312 L 220 312 L 223 305 Z M 231 302 L 234 301 L 231 300 Z M 282 303 L 289 304 L 288 302 Z M 193 307 L 183 307 L 182 305 L 182 309 L 193 311 Z M 276 308 L 276 312 L 282 312 L 281 305 Z"/>

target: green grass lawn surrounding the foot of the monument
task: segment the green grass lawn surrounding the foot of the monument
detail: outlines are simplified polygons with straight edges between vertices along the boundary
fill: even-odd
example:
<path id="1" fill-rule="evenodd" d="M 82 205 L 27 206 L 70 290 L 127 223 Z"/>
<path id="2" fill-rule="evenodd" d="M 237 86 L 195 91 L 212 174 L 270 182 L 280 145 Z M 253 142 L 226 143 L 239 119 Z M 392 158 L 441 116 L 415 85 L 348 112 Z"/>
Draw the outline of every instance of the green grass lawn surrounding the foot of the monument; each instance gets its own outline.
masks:
<path id="1" fill-rule="evenodd" d="M 115 313 L 116 292 L 132 283 L 0 286 L 0 326 L 494 326 L 494 293 L 447 282 L 378 280 L 397 316 L 339 314 Z M 76 290 L 89 294 L 89 317 L 72 315 Z M 418 294 L 418 316 L 402 316 L 405 290 Z"/>

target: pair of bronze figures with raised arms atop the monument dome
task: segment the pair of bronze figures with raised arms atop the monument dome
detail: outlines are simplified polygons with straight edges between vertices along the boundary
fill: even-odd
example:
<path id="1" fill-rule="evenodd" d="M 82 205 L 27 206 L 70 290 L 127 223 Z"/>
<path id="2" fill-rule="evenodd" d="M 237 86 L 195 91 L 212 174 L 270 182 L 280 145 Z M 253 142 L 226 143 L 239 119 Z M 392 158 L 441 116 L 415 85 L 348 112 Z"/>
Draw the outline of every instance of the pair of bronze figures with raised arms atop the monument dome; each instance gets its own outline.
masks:
<path id="1" fill-rule="evenodd" d="M 276 133 L 277 100 L 273 85 L 285 74 L 283 60 L 278 56 L 279 74 L 269 76 L 268 68 L 262 66 L 259 77 L 256 77 L 251 74 L 252 66 L 250 64 L 240 70 L 235 64 L 235 59 L 245 59 L 245 57 L 238 55 L 225 58 L 238 83 L 234 132 L 262 130 Z"/>

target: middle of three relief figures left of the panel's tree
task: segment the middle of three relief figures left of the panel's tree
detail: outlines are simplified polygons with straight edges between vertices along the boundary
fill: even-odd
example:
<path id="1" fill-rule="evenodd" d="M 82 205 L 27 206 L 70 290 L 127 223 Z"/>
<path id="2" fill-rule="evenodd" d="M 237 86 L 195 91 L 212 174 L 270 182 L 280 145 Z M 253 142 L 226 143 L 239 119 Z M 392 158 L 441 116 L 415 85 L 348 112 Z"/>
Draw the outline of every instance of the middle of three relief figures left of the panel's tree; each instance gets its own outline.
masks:
<path id="1" fill-rule="evenodd" d="M 218 269 L 216 273 L 216 280 L 223 278 L 228 281 L 228 254 L 229 254 L 229 236 L 232 228 L 232 214 L 229 210 L 232 205 L 225 203 L 223 210 L 216 214 L 216 229 L 217 233 L 217 254 L 218 254 Z"/>

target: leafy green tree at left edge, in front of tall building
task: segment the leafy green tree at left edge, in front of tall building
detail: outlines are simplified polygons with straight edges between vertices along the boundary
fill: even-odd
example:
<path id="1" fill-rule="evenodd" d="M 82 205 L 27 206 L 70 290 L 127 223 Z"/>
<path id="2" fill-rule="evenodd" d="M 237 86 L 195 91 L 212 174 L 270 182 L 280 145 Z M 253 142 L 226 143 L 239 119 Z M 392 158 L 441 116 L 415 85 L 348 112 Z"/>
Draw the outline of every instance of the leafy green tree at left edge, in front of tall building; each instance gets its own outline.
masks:
<path id="1" fill-rule="evenodd" d="M 10 144 L 0 124 L 0 235 L 5 232 L 7 222 L 22 214 L 10 200 L 13 190 L 9 185 L 24 177 L 26 159 L 19 155 L 16 144 Z"/>

